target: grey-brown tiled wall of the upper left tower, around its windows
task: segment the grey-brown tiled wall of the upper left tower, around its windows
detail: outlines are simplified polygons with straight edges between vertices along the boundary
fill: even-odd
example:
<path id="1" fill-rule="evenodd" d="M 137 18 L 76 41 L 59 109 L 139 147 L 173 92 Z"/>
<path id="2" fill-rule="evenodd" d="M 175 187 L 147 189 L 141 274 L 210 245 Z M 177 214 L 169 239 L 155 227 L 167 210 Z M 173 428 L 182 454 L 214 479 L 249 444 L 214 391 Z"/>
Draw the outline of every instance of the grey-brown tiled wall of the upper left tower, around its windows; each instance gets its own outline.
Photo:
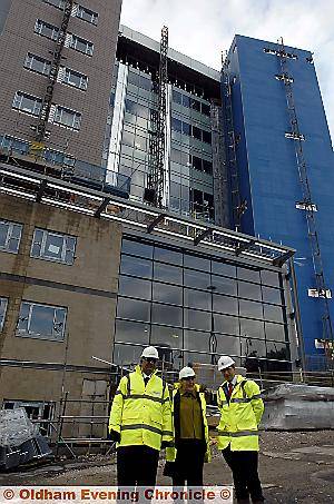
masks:
<path id="1" fill-rule="evenodd" d="M 4 1 L 4 7 L 8 0 Z M 57 83 L 53 102 L 81 113 L 80 131 L 48 123 L 48 147 L 66 150 L 69 155 L 100 165 L 108 113 L 111 77 L 120 16 L 120 0 L 89 0 L 80 2 L 98 12 L 97 26 L 71 17 L 68 31 L 94 42 L 94 55 L 88 57 L 73 49 L 63 49 L 61 65 L 88 77 L 88 89 Z M 2 6 L 2 2 L 1 2 Z M 7 6 L 8 7 L 8 6 Z M 8 9 L 0 8 L 1 19 Z M 3 11 L 3 13 L 2 13 Z M 55 41 L 35 33 L 35 22 L 41 19 L 60 26 L 62 11 L 41 0 L 12 0 L 4 30 L 0 37 L 0 135 L 33 139 L 31 125 L 37 118 L 12 109 L 16 91 L 43 98 L 48 79 L 23 68 L 27 52 L 51 59 Z"/>

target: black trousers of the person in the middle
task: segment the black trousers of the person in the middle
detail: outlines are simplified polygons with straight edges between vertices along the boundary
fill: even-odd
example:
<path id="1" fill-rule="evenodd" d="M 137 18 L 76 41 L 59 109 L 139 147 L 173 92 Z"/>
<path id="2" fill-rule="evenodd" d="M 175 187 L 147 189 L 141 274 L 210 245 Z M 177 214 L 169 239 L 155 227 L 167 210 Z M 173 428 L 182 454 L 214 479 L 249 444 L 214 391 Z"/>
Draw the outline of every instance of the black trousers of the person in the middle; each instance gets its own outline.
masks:
<path id="1" fill-rule="evenodd" d="M 179 439 L 176 445 L 176 471 L 173 486 L 203 486 L 203 466 L 206 445 L 200 439 Z"/>

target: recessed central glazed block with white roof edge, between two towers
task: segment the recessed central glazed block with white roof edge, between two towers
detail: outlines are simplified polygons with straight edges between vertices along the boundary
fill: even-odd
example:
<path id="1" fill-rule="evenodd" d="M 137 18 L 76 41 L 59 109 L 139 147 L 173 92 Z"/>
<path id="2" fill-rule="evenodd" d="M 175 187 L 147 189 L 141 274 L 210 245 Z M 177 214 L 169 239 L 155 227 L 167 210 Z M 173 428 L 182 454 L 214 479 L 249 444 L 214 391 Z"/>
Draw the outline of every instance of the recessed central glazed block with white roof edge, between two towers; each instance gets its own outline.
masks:
<path id="1" fill-rule="evenodd" d="M 120 27 L 104 158 L 109 170 L 131 177 L 137 201 L 153 169 L 159 51 L 155 40 Z M 167 77 L 164 207 L 226 227 L 220 72 L 169 48 Z"/>

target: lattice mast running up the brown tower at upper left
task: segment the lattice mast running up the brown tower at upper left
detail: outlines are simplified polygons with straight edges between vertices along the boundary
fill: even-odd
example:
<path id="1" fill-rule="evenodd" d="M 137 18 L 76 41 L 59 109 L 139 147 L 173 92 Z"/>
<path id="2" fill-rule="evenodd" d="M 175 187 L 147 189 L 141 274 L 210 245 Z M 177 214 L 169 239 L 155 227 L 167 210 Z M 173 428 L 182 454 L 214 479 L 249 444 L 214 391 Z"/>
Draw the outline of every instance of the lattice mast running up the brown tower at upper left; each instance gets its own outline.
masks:
<path id="1" fill-rule="evenodd" d="M 48 119 L 50 116 L 51 105 L 52 105 L 52 97 L 55 85 L 57 82 L 58 71 L 60 67 L 61 53 L 66 41 L 66 34 L 68 29 L 68 23 L 71 17 L 73 7 L 73 0 L 66 0 L 63 7 L 63 16 L 61 20 L 61 24 L 58 31 L 57 42 L 53 51 L 53 59 L 51 62 L 49 80 L 46 88 L 46 93 L 43 97 L 43 101 L 41 105 L 40 115 L 38 118 L 38 125 L 36 127 L 36 141 L 43 142 L 46 138 L 47 125 Z"/>

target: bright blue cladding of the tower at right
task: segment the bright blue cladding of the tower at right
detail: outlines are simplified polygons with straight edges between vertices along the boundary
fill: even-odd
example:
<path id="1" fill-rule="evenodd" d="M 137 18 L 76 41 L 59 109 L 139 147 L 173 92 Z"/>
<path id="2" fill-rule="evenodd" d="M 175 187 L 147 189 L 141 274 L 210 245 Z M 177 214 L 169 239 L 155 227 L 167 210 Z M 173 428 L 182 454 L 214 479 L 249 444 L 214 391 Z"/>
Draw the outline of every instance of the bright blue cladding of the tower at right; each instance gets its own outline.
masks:
<path id="1" fill-rule="evenodd" d="M 234 46 L 236 48 L 234 49 Z M 318 355 L 315 338 L 322 338 L 322 302 L 310 298 L 307 289 L 315 287 L 307 223 L 304 210 L 295 208 L 303 199 L 298 179 L 294 140 L 291 131 L 284 82 L 275 76 L 282 73 L 279 58 L 266 53 L 278 45 L 236 36 L 232 47 L 230 75 L 236 77 L 233 88 L 234 122 L 240 135 L 238 164 L 240 190 L 248 200 L 243 217 L 243 230 L 262 238 L 282 241 L 297 249 L 296 275 L 301 302 L 305 352 Z M 234 50 L 233 50 L 234 49 Z M 322 97 L 310 51 L 285 48 L 296 55 L 288 58 L 289 77 L 294 79 L 294 101 L 307 165 L 317 234 L 321 246 L 325 281 L 334 294 L 334 157 L 323 108 Z M 248 199 L 249 198 L 249 199 Z M 334 320 L 334 302 L 330 310 Z"/>

